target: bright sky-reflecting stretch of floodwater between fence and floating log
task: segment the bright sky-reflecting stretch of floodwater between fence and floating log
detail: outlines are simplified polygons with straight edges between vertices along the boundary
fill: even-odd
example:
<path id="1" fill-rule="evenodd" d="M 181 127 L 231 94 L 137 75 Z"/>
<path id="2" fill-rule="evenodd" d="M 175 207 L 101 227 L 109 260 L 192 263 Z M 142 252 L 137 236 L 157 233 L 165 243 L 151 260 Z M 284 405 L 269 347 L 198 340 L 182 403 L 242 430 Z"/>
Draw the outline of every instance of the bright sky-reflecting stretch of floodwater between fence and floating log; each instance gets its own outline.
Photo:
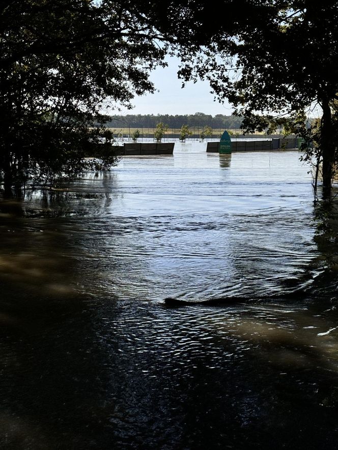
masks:
<path id="1" fill-rule="evenodd" d="M 276 294 L 307 282 L 316 252 L 313 198 L 299 156 L 219 156 L 194 143 L 172 157 L 123 158 L 102 179 L 114 198 L 97 220 L 83 218 L 106 289 L 202 299 Z M 91 177 L 86 188 L 93 189 Z M 108 257 L 121 270 L 111 271 Z"/>

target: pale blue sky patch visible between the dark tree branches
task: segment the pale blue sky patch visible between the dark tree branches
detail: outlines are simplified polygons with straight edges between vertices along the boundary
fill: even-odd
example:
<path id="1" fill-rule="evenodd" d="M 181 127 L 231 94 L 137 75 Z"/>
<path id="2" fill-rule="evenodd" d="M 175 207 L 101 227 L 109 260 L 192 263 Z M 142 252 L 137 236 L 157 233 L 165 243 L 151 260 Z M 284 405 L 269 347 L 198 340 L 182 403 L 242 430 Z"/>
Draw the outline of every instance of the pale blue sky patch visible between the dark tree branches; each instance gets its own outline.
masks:
<path id="1" fill-rule="evenodd" d="M 233 108 L 228 104 L 214 102 L 214 96 L 207 82 L 187 83 L 181 88 L 181 81 L 177 78 L 178 59 L 167 59 L 168 67 L 158 68 L 151 74 L 155 94 L 135 97 L 132 104 L 135 108 L 125 111 L 126 114 L 205 114 L 231 115 Z"/>

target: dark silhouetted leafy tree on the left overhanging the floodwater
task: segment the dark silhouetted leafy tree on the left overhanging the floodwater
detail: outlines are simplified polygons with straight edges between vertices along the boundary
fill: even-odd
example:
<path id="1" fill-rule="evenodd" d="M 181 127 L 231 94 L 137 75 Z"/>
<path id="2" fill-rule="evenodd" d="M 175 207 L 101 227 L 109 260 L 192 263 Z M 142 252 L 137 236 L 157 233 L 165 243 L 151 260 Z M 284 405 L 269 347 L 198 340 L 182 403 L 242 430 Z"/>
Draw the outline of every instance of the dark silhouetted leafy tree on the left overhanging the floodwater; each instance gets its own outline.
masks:
<path id="1" fill-rule="evenodd" d="M 126 6 L 123 6 L 126 5 Z M 0 7 L 0 172 L 5 193 L 97 167 L 109 104 L 153 92 L 148 76 L 165 45 L 137 5 L 90 0 L 5 0 Z M 128 9 L 129 7 L 129 9 Z M 137 20 L 136 20 L 137 18 Z"/>

